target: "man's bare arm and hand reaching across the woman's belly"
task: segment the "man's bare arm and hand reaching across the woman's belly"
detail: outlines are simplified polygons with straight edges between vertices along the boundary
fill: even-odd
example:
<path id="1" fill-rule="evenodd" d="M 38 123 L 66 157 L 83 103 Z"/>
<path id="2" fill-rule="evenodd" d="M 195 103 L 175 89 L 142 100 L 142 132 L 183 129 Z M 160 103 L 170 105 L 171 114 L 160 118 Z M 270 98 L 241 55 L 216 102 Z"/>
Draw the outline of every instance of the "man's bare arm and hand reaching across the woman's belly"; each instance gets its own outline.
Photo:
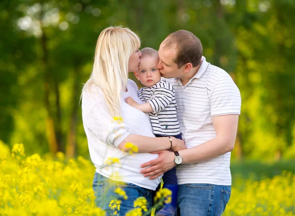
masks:
<path id="1" fill-rule="evenodd" d="M 193 148 L 178 151 L 183 158 L 182 164 L 207 161 L 234 149 L 238 115 L 213 116 L 212 123 L 216 131 L 216 137 Z M 151 176 L 149 179 L 155 179 L 176 166 L 173 152 L 159 151 L 155 153 L 159 154 L 159 158 L 141 165 L 142 168 L 150 166 L 141 170 L 145 177 Z"/>

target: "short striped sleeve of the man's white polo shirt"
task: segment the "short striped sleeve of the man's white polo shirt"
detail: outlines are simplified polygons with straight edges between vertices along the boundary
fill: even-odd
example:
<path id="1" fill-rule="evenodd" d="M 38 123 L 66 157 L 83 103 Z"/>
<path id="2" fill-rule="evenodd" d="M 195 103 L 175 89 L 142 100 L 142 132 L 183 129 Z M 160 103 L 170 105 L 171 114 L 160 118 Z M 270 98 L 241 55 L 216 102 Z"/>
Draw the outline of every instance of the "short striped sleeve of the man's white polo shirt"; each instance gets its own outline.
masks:
<path id="1" fill-rule="evenodd" d="M 222 77 L 212 86 L 210 95 L 211 116 L 240 114 L 241 96 L 233 79 Z"/>

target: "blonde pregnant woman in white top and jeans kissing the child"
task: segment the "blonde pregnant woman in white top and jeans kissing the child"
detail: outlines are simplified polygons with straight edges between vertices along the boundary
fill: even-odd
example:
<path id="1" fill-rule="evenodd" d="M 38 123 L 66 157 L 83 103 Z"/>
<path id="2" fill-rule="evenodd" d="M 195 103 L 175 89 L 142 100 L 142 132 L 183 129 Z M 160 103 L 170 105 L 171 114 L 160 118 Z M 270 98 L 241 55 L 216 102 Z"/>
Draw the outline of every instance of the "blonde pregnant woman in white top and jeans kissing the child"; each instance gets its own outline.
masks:
<path id="1" fill-rule="evenodd" d="M 128 72 L 138 70 L 139 48 L 140 39 L 129 28 L 104 29 L 98 37 L 92 73 L 81 96 L 83 125 L 96 167 L 92 187 L 96 205 L 106 210 L 107 215 L 114 214 L 112 199 L 121 200 L 119 210 L 116 209 L 121 216 L 134 208 L 133 202 L 140 196 L 151 204 L 152 190 L 162 176 L 150 180 L 140 174 L 142 163 L 158 158 L 148 152 L 186 148 L 175 137 L 154 137 L 148 114 L 125 103 L 127 97 L 142 103 L 135 82 L 128 80 Z M 137 146 L 138 153 L 127 153 L 130 144 L 126 143 Z M 119 163 L 112 159 L 119 159 Z M 117 188 L 126 192 L 127 200 Z"/>

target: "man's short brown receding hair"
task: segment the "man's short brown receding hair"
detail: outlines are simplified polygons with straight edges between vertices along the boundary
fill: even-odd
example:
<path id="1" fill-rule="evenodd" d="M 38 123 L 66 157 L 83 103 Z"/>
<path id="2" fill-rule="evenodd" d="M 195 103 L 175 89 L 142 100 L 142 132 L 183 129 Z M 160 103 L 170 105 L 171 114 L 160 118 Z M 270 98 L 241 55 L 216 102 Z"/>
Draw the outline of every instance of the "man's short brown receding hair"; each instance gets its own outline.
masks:
<path id="1" fill-rule="evenodd" d="M 191 63 L 193 67 L 201 63 L 203 55 L 202 43 L 192 32 L 186 30 L 173 32 L 166 37 L 163 44 L 164 49 L 176 47 L 177 57 L 174 62 L 178 68 L 181 68 L 186 63 Z"/>

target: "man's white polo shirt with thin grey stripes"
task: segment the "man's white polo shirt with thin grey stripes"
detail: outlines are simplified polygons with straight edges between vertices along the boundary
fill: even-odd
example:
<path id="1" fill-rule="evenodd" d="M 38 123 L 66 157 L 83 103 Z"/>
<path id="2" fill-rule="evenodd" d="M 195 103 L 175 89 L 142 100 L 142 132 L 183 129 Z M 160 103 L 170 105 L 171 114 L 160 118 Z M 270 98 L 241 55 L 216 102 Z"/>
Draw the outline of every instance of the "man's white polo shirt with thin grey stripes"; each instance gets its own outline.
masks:
<path id="1" fill-rule="evenodd" d="M 177 119 L 187 148 L 216 137 L 212 116 L 240 114 L 240 92 L 230 75 L 204 56 L 202 60 L 199 71 L 185 86 L 179 79 L 167 79 L 175 89 Z M 229 186 L 230 158 L 228 152 L 208 161 L 177 166 L 177 182 Z"/>

